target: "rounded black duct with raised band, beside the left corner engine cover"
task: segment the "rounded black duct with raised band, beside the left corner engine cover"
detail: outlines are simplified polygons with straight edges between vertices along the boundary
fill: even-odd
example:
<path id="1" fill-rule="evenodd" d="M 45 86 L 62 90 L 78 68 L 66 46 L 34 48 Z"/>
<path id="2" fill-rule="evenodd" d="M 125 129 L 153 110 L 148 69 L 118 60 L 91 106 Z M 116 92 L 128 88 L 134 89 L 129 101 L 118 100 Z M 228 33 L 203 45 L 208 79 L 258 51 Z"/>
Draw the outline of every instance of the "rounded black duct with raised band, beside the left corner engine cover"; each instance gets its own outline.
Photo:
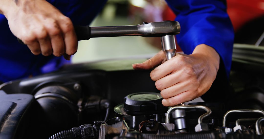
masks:
<path id="1" fill-rule="evenodd" d="M 53 81 L 45 82 L 36 87 L 34 96 L 42 110 L 46 133 L 51 135 L 65 128 L 79 125 L 77 105 L 81 95 L 78 93 L 79 90 L 81 87 L 78 83 Z"/>

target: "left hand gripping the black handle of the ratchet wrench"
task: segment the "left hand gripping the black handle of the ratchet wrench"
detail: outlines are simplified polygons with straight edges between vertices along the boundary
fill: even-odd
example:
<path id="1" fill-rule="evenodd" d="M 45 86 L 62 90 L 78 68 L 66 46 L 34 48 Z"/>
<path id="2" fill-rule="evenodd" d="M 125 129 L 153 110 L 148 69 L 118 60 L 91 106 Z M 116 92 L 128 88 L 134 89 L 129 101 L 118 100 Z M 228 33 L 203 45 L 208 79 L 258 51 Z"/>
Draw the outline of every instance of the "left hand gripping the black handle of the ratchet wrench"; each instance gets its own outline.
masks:
<path id="1" fill-rule="evenodd" d="M 8 19 L 12 33 L 33 54 L 54 54 L 69 60 L 77 51 L 71 20 L 45 0 L 3 0 L 0 13 Z"/>

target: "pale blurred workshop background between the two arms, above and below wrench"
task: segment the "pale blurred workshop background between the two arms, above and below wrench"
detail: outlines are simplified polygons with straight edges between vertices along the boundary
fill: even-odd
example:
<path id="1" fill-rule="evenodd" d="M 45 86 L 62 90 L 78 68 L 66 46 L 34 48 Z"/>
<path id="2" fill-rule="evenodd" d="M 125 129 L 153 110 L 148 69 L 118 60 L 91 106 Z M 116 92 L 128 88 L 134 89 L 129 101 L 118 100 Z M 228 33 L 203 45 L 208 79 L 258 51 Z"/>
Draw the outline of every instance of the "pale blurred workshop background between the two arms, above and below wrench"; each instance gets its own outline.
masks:
<path id="1" fill-rule="evenodd" d="M 163 21 L 162 14 L 166 8 L 164 0 L 109 0 L 90 26 L 124 26 Z M 79 41 L 78 45 L 72 63 L 135 58 L 141 58 L 143 62 L 146 57 L 150 58 L 161 50 L 160 38 L 139 36 L 91 38 Z"/>

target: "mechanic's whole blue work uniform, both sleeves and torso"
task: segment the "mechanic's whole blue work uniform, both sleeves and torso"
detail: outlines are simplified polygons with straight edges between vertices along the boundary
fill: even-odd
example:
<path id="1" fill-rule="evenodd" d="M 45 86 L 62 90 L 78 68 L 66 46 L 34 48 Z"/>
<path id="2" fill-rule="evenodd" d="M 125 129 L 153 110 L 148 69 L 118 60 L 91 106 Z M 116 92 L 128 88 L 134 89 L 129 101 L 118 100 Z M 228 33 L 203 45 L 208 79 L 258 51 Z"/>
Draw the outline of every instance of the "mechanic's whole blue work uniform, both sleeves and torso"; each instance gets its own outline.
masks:
<path id="1" fill-rule="evenodd" d="M 47 0 L 68 16 L 74 25 L 89 25 L 107 0 Z M 191 54 L 198 44 L 213 47 L 220 55 L 227 75 L 230 72 L 233 48 L 233 27 L 226 13 L 225 1 L 167 0 L 181 24 L 177 35 L 185 54 Z M 34 55 L 17 42 L 7 19 L 0 14 L 0 81 L 7 82 L 51 72 L 69 61 L 53 55 Z"/>

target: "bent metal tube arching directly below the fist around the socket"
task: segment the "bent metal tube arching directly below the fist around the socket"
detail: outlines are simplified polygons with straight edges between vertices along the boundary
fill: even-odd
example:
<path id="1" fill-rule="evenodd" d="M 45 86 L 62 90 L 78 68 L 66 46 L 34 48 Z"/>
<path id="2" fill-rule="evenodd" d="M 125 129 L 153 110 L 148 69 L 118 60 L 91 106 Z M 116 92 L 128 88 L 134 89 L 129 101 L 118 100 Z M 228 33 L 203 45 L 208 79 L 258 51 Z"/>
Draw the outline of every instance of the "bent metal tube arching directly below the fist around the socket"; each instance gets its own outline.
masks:
<path id="1" fill-rule="evenodd" d="M 167 114 L 166 114 L 166 121 L 165 123 L 169 123 L 169 116 L 171 115 L 172 111 L 174 110 L 189 110 L 189 109 L 201 109 L 201 110 L 205 110 L 206 113 L 201 115 L 199 118 L 198 118 L 198 124 L 202 123 L 202 119 L 209 116 L 212 111 L 210 110 L 210 108 L 206 107 L 206 106 L 202 106 L 202 105 L 189 105 L 189 106 L 181 106 L 181 105 L 177 105 L 177 106 L 174 106 L 174 107 L 171 107 L 169 108 L 169 110 L 167 111 Z"/>

